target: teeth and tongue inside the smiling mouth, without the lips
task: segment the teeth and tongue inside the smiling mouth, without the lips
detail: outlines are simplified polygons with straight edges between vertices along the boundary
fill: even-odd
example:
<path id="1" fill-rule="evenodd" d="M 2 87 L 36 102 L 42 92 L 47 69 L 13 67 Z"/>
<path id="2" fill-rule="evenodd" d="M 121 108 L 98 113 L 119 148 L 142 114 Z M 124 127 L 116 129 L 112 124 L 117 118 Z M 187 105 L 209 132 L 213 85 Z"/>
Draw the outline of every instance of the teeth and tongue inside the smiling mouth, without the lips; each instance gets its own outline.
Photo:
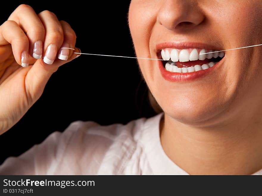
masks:
<path id="1" fill-rule="evenodd" d="M 164 60 L 162 61 L 163 67 L 168 72 L 199 72 L 213 67 L 224 58 L 224 52 L 216 51 L 218 50 L 206 50 L 202 48 L 163 48 L 159 51 L 159 56 Z"/>

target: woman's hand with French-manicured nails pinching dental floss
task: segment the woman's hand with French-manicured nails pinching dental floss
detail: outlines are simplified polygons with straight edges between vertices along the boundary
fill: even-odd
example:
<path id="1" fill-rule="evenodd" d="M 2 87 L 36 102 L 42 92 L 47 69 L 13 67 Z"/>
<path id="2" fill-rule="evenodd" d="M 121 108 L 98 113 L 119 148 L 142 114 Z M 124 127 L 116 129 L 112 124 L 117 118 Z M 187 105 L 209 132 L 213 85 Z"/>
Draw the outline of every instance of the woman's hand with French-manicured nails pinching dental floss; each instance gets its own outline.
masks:
<path id="1" fill-rule="evenodd" d="M 52 73 L 77 57 L 75 42 L 67 22 L 47 10 L 37 15 L 28 5 L 17 7 L 0 26 L 0 134 L 38 100 Z"/>

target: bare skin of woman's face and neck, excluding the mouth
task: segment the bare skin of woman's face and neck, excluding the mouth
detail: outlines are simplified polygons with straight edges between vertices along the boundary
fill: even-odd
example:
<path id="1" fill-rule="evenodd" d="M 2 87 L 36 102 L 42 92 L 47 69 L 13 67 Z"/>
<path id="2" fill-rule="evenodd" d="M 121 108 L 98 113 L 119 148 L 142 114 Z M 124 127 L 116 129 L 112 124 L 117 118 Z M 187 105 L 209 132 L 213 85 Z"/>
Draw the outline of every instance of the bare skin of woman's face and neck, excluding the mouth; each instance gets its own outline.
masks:
<path id="1" fill-rule="evenodd" d="M 257 0 L 132 0 L 129 26 L 137 57 L 156 45 L 199 42 L 231 49 L 262 43 Z M 192 175 L 252 174 L 262 169 L 262 47 L 226 51 L 223 64 L 193 81 L 171 82 L 157 61 L 138 59 L 164 111 L 166 155 Z"/>

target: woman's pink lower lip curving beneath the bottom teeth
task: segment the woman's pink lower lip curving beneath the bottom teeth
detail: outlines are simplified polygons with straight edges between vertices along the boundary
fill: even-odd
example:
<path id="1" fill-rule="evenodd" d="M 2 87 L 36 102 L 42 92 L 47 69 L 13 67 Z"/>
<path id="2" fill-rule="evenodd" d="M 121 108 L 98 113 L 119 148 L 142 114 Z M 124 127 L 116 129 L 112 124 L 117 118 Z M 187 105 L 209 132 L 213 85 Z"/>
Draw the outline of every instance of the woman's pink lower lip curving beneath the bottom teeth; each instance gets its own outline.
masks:
<path id="1" fill-rule="evenodd" d="M 225 57 L 224 57 L 225 58 Z M 186 72 L 186 73 L 178 73 L 178 72 L 169 72 L 163 67 L 163 63 L 158 61 L 158 66 L 163 78 L 168 81 L 176 82 L 176 81 L 190 81 L 200 77 L 207 75 L 208 73 L 214 71 L 217 67 L 223 63 L 224 58 L 221 59 L 218 63 L 216 63 L 213 67 L 210 67 L 206 70 L 200 70 L 196 72 Z"/>

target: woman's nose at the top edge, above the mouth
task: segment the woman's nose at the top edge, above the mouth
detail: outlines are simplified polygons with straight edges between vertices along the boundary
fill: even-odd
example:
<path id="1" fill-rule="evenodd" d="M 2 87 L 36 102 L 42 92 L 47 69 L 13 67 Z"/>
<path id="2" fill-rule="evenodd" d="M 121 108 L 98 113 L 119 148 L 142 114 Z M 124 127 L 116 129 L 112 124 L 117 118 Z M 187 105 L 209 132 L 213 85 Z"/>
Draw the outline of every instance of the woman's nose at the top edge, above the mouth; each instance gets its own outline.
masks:
<path id="1" fill-rule="evenodd" d="M 159 24 L 171 31 L 190 30 L 204 21 L 197 0 L 166 0 L 158 12 Z"/>

